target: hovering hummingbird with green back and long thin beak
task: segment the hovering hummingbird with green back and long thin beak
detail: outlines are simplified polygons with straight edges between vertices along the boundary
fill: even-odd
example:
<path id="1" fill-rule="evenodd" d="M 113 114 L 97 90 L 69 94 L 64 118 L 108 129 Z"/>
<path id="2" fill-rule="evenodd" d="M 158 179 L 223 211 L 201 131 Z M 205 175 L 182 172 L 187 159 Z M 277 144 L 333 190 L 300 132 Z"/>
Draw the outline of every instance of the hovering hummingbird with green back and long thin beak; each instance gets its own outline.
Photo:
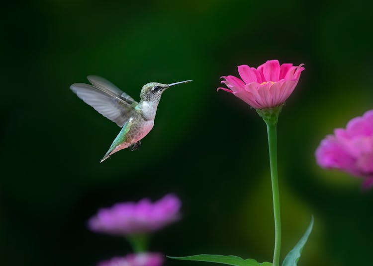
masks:
<path id="1" fill-rule="evenodd" d="M 171 84 L 147 83 L 141 89 L 140 102 L 136 102 L 103 77 L 89 75 L 87 79 L 92 85 L 75 83 L 70 86 L 70 89 L 98 113 L 122 128 L 100 162 L 121 149 L 127 147 L 131 150 L 138 149 L 141 146 L 140 140 L 154 126 L 157 107 L 163 92 L 174 85 L 192 81 L 185 80 Z"/>

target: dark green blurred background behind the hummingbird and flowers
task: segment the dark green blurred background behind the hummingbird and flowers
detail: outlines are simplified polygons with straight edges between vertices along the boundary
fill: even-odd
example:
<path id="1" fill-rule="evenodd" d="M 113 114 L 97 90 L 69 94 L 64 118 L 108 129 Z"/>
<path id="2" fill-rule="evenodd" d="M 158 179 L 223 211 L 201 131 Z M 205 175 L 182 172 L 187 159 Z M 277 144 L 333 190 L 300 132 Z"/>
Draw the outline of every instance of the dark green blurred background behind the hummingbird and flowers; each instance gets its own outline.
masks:
<path id="1" fill-rule="evenodd" d="M 371 265 L 373 192 L 320 169 L 314 151 L 373 108 L 372 3 L 330 1 L 8 1 L 2 10 L 0 264 L 93 266 L 130 252 L 94 234 L 98 208 L 175 193 L 183 219 L 156 233 L 167 255 L 271 261 L 265 124 L 220 76 L 269 59 L 305 64 L 278 128 L 282 258 L 314 231 L 299 265 Z M 138 99 L 167 91 L 137 151 L 104 163 L 119 128 L 69 89 L 101 75 Z M 168 266 L 207 265 L 166 262 Z"/>

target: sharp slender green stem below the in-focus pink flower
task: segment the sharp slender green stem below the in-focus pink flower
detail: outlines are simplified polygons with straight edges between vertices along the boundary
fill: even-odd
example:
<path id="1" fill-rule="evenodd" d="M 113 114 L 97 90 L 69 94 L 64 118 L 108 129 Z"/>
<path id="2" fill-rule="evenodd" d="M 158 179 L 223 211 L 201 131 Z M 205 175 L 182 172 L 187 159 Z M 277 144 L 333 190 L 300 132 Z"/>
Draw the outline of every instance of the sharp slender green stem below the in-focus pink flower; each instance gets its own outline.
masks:
<path id="1" fill-rule="evenodd" d="M 280 195 L 279 195 L 279 177 L 277 171 L 277 125 L 267 124 L 268 147 L 270 151 L 271 180 L 273 211 L 275 216 L 275 251 L 273 255 L 273 265 L 280 265 L 281 249 L 281 218 L 280 218 Z"/>

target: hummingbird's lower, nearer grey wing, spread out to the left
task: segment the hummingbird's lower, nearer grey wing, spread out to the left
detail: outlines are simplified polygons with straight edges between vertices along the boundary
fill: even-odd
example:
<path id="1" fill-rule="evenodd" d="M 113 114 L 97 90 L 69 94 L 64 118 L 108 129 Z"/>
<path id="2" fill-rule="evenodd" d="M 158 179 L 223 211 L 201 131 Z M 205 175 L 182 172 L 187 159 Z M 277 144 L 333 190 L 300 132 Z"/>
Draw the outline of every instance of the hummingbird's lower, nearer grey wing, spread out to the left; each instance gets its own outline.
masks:
<path id="1" fill-rule="evenodd" d="M 114 93 L 113 88 L 103 89 L 84 83 L 75 83 L 70 86 L 70 89 L 85 103 L 91 105 L 98 113 L 115 122 L 119 127 L 123 127 L 135 112 L 131 104 Z"/>

